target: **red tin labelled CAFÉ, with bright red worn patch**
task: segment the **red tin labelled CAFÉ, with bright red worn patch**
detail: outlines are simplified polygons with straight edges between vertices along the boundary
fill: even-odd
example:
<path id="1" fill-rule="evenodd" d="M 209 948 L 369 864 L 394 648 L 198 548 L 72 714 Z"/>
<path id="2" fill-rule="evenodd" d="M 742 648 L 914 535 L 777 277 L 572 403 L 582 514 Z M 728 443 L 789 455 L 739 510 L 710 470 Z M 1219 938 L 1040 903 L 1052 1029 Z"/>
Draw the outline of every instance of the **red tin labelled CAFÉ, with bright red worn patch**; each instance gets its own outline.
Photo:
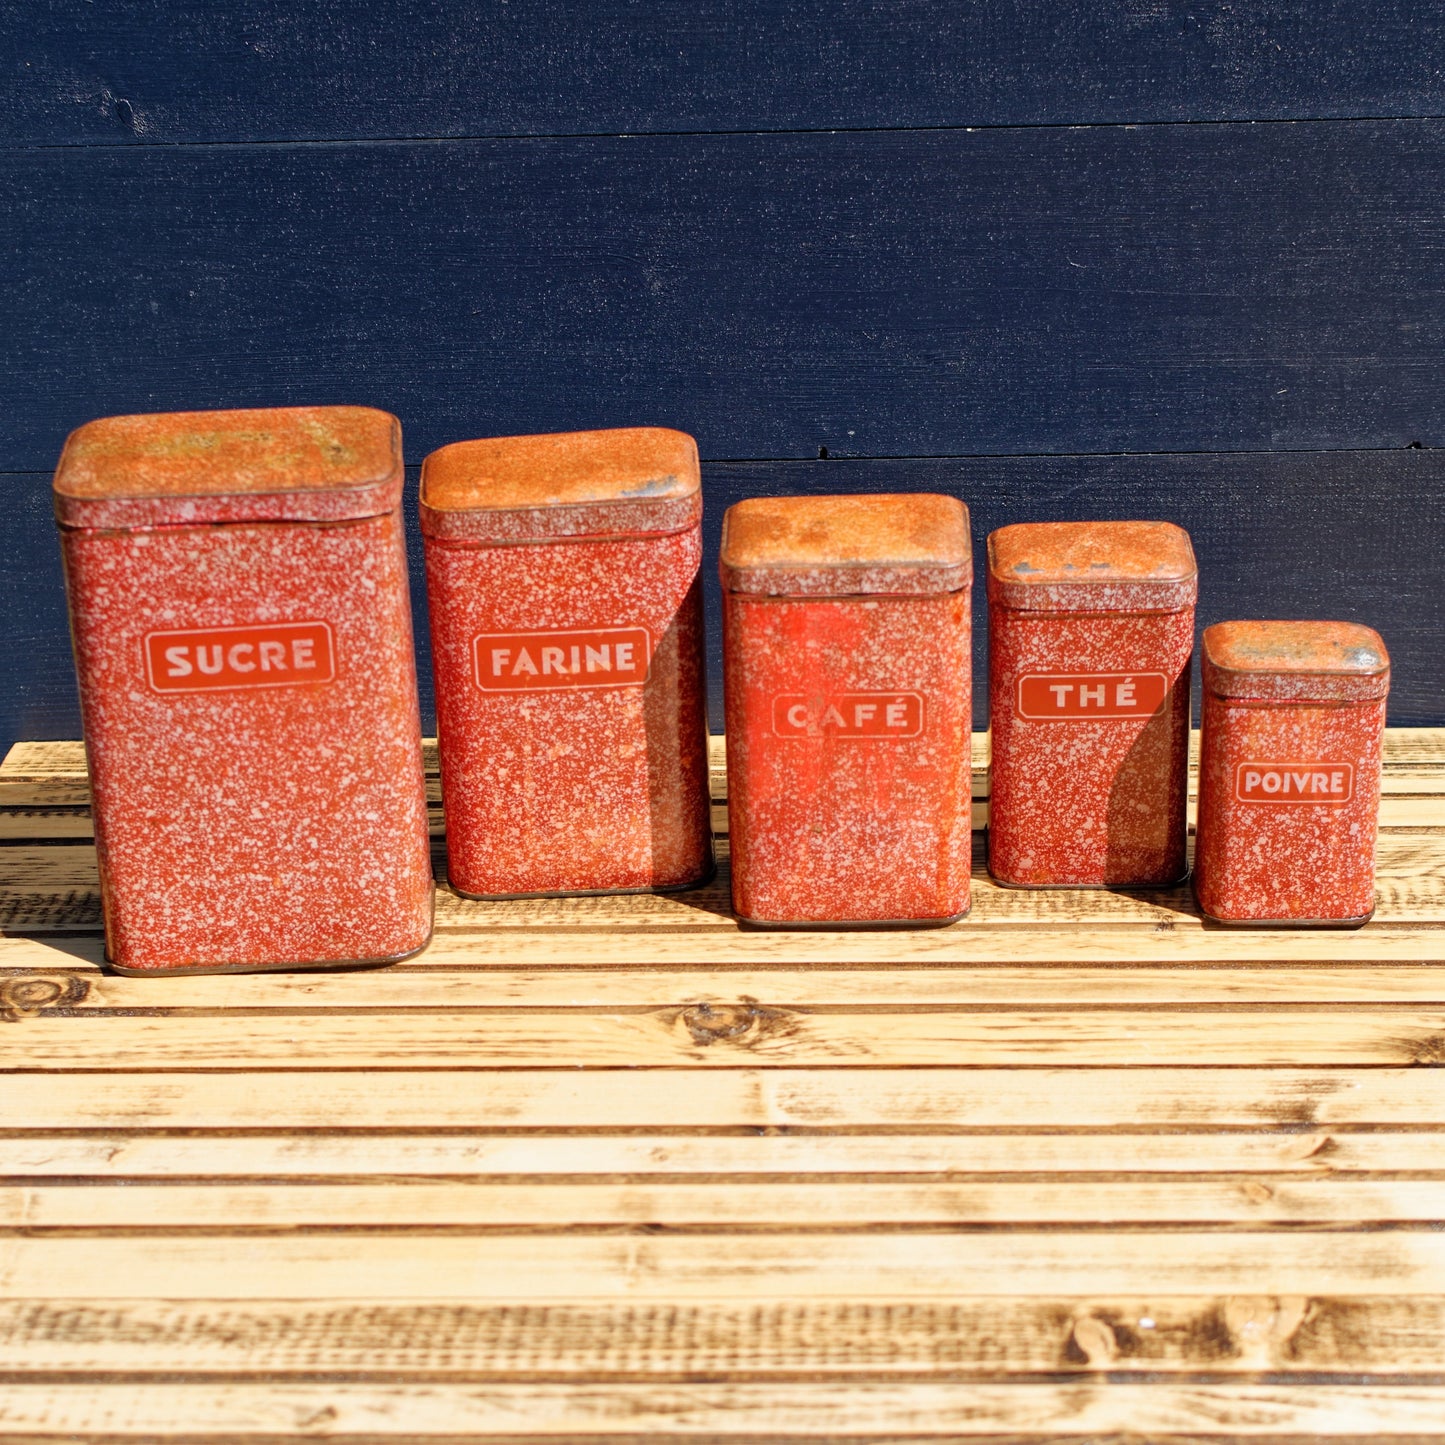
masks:
<path id="1" fill-rule="evenodd" d="M 760 926 L 968 912 L 968 512 L 740 501 L 722 523 L 733 907 Z"/>

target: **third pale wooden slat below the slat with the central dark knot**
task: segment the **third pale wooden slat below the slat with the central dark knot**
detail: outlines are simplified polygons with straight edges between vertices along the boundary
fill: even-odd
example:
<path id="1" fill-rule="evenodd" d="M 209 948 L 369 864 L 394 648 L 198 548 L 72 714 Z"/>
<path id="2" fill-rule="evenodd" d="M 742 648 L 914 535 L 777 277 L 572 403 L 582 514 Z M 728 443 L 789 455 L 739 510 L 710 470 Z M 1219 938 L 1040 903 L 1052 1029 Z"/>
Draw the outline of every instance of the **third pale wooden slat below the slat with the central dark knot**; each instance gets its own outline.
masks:
<path id="1" fill-rule="evenodd" d="M 0 1230 L 876 1230 L 1036 1224 L 1445 1227 L 1441 1179 L 968 1183 L 0 1185 Z"/>

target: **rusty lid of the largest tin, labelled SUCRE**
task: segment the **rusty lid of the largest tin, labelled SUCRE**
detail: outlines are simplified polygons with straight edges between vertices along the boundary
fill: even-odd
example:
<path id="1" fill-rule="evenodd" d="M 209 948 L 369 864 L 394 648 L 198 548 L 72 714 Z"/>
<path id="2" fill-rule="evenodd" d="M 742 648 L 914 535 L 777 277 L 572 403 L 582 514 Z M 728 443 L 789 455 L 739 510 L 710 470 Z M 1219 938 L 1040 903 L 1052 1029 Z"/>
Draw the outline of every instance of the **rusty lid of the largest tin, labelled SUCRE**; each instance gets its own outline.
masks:
<path id="1" fill-rule="evenodd" d="M 68 527 L 345 522 L 402 500 L 402 423 L 370 406 L 107 416 L 55 470 Z"/>

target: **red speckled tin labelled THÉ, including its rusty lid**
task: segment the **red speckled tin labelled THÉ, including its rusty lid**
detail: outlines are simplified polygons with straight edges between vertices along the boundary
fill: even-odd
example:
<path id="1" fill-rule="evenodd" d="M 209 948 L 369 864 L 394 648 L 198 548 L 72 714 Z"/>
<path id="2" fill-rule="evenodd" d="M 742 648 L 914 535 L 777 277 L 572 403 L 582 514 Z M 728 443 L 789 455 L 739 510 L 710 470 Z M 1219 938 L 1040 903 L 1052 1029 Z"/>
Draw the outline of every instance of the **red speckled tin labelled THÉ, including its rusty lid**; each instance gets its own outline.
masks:
<path id="1" fill-rule="evenodd" d="M 1168 522 L 988 538 L 988 868 L 1014 887 L 1178 883 L 1196 574 Z"/>

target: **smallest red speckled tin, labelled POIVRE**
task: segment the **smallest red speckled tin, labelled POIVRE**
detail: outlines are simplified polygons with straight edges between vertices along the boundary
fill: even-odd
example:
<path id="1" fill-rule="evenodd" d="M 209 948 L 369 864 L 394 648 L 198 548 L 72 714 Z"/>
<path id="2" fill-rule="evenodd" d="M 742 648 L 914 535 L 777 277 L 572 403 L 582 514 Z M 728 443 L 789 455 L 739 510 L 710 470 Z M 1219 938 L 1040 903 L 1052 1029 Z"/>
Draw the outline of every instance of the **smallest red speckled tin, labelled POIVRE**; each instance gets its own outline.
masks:
<path id="1" fill-rule="evenodd" d="M 1215 623 L 1202 662 L 1199 907 L 1221 923 L 1364 923 L 1390 691 L 1380 634 L 1357 623 Z"/>

